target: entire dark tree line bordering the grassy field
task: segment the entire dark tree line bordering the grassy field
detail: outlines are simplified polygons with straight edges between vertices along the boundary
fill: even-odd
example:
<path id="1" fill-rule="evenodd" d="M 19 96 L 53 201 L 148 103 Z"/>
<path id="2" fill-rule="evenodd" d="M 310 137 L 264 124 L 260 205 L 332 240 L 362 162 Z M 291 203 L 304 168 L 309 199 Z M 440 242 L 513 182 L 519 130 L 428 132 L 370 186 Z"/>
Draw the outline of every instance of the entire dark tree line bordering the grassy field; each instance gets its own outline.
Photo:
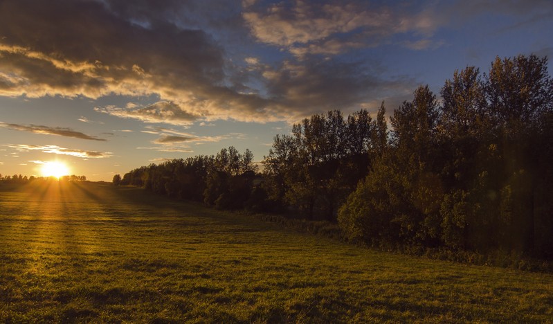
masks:
<path id="1" fill-rule="evenodd" d="M 224 209 L 337 222 L 379 246 L 552 258 L 553 82 L 547 58 L 467 66 L 374 118 L 328 111 L 276 135 L 262 172 L 234 147 L 138 168 L 114 183 Z"/>

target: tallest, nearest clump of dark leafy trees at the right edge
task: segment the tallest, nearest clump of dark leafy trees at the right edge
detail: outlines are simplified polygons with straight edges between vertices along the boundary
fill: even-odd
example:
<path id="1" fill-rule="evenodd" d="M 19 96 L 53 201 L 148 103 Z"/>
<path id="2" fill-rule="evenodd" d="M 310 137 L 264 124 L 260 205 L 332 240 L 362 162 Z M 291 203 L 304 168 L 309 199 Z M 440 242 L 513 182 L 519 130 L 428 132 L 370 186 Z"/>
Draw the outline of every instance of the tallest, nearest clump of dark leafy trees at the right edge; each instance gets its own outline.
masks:
<path id="1" fill-rule="evenodd" d="M 467 67 L 441 94 L 419 87 L 395 110 L 386 154 L 341 208 L 346 237 L 551 257 L 547 60 L 497 58 L 484 78 Z"/>

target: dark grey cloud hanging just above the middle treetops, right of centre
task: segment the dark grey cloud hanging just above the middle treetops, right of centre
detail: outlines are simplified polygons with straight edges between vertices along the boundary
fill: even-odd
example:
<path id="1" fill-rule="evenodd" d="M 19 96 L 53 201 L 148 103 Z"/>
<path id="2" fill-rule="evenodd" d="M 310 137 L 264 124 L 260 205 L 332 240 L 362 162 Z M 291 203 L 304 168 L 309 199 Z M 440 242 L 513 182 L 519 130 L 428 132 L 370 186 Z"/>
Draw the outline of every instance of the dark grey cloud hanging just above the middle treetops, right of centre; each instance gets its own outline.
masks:
<path id="1" fill-rule="evenodd" d="M 275 69 L 266 69 L 262 75 L 267 91 L 280 103 L 274 114 L 289 116 L 289 122 L 296 123 L 320 111 L 341 109 L 347 113 L 360 109 L 369 100 L 381 102 L 413 93 L 416 80 L 405 75 L 381 78 L 384 71 L 377 64 L 365 62 L 311 60 L 302 64 L 285 61 Z M 375 105 L 374 109 L 378 107 Z"/>

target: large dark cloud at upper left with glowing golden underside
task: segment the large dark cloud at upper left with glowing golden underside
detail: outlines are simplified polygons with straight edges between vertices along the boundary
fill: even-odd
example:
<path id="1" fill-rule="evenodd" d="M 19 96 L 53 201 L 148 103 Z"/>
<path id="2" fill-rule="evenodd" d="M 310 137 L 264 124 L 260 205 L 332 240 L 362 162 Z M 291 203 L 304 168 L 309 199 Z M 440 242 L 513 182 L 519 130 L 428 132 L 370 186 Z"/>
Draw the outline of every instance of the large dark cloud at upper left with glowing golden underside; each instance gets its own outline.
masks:
<path id="1" fill-rule="evenodd" d="M 3 2 L 0 96 L 155 94 L 161 102 L 154 107 L 101 109 L 147 122 L 255 116 L 264 100 L 227 87 L 221 46 L 175 17 L 179 12 L 193 19 L 186 12 L 194 6 L 192 1 Z"/>

